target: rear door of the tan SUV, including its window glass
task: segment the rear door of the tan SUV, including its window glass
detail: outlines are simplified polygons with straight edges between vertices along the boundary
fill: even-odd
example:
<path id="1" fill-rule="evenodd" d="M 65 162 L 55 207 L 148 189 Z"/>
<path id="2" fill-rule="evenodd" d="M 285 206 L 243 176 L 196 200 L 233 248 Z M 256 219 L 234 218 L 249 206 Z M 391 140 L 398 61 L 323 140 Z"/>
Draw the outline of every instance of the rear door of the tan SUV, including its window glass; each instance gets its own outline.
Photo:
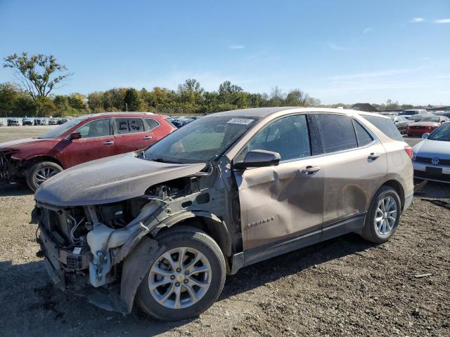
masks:
<path id="1" fill-rule="evenodd" d="M 360 225 L 387 174 L 387 159 L 383 145 L 356 119 L 324 113 L 316 114 L 316 121 L 324 154 L 323 239 L 327 239 L 342 230 L 338 222 Z"/>

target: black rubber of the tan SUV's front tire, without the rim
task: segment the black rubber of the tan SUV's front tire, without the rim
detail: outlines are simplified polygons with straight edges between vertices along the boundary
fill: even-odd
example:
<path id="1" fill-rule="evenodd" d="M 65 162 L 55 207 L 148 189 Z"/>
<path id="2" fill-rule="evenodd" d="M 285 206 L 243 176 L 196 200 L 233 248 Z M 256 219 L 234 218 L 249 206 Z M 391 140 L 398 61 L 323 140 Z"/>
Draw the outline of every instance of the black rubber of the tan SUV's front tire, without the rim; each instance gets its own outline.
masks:
<path id="1" fill-rule="evenodd" d="M 166 253 L 171 249 L 176 249 L 177 247 L 188 247 L 203 253 L 211 266 L 210 287 L 197 303 L 188 306 L 187 308 L 167 308 L 165 305 L 158 303 L 150 293 L 148 286 L 150 277 L 149 270 L 137 290 L 136 303 L 138 303 L 139 307 L 143 312 L 146 312 L 147 315 L 163 321 L 188 319 L 200 315 L 207 310 L 207 308 L 210 308 L 224 288 L 226 264 L 224 255 L 219 246 L 214 239 L 205 232 L 198 230 L 198 228 L 188 226 L 175 226 L 157 236 L 156 239 L 160 246 L 165 246 L 165 251 L 163 253 Z M 153 265 L 163 253 L 158 254 L 158 256 L 152 256 L 150 265 Z"/>

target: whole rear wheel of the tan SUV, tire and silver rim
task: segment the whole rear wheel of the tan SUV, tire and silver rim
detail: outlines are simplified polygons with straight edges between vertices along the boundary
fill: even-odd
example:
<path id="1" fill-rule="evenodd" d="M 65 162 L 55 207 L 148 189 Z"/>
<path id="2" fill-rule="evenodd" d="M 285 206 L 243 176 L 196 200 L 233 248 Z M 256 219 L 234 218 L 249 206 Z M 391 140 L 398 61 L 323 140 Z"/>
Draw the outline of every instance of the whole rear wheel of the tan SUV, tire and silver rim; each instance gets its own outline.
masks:
<path id="1" fill-rule="evenodd" d="M 382 200 L 383 204 L 381 204 Z M 368 209 L 361 237 L 377 244 L 387 242 L 397 230 L 400 215 L 399 194 L 392 187 L 382 186 L 375 194 Z M 389 217 L 394 218 L 394 220 Z M 380 220 L 377 221 L 377 219 Z"/>

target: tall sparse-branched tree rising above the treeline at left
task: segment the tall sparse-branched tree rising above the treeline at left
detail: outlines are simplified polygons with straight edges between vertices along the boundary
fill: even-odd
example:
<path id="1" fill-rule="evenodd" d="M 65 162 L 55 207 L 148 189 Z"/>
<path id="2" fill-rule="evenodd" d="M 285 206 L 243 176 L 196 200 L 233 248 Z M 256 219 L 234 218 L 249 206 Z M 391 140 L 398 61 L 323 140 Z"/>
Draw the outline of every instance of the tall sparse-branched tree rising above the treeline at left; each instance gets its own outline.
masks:
<path id="1" fill-rule="evenodd" d="M 53 89 L 72 76 L 53 55 L 37 54 L 29 57 L 25 52 L 22 55 L 15 53 L 4 58 L 4 67 L 15 70 L 18 86 L 34 100 L 47 97 Z"/>

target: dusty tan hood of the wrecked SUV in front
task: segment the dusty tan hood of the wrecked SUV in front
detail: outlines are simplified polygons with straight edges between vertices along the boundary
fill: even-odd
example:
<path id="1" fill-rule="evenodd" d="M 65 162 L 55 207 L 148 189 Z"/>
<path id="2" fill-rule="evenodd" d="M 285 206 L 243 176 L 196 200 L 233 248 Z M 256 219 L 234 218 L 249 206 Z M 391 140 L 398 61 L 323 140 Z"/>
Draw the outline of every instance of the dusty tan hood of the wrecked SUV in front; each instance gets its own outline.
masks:
<path id="1" fill-rule="evenodd" d="M 148 187 L 190 176 L 206 164 L 167 164 L 118 154 L 74 166 L 42 183 L 34 199 L 55 206 L 108 204 L 139 197 Z"/>

